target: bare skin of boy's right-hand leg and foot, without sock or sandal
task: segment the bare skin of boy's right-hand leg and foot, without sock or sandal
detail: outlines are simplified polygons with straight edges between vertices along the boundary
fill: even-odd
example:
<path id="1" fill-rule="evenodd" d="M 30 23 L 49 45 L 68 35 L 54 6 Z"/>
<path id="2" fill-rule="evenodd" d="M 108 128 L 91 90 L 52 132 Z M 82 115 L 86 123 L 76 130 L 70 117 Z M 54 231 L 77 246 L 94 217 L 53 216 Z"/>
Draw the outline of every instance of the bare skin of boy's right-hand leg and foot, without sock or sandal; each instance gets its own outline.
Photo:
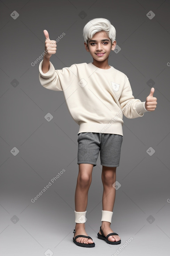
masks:
<path id="1" fill-rule="evenodd" d="M 116 167 L 102 167 L 102 182 L 103 182 L 103 210 L 104 211 L 113 211 L 113 206 L 115 202 L 116 190 L 113 188 L 113 183 L 116 181 Z M 112 233 L 112 229 L 110 227 L 111 223 L 107 221 L 102 221 L 102 231 L 105 236 L 109 233 Z M 101 235 L 101 232 L 99 231 Z M 111 235 L 108 237 L 109 241 L 117 242 L 120 240 L 120 236 Z"/>

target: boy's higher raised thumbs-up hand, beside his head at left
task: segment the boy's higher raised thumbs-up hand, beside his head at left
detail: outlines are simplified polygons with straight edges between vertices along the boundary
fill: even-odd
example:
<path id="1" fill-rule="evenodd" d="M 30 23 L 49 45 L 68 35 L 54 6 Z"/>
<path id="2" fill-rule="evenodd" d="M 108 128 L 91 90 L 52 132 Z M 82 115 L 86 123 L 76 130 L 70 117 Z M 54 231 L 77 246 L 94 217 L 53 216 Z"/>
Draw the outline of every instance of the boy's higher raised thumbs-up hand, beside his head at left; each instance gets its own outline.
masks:
<path id="1" fill-rule="evenodd" d="M 55 40 L 50 40 L 49 34 L 47 30 L 44 30 L 44 36 L 46 37 L 45 41 L 45 55 L 44 57 L 50 58 L 52 54 L 56 53 L 57 50 L 57 44 Z"/>

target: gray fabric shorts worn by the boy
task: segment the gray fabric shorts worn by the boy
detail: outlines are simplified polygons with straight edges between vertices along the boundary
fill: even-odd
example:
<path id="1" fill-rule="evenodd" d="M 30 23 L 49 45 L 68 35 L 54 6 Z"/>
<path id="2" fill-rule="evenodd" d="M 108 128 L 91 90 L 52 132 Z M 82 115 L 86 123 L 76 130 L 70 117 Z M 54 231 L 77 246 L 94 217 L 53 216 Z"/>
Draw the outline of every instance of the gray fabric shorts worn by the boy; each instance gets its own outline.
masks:
<path id="1" fill-rule="evenodd" d="M 101 165 L 119 166 L 122 135 L 86 132 L 79 133 L 78 136 L 78 164 L 93 164 L 96 166 L 100 151 Z"/>

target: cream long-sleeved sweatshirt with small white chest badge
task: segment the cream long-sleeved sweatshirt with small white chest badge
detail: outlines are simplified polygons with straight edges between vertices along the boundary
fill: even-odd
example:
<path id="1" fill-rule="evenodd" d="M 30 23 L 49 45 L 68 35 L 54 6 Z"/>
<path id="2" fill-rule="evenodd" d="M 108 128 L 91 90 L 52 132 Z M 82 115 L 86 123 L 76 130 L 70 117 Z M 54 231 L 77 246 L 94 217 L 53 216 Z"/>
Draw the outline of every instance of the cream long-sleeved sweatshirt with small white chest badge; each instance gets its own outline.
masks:
<path id="1" fill-rule="evenodd" d="M 101 69 L 90 63 L 73 64 L 55 70 L 50 62 L 49 71 L 42 72 L 39 80 L 44 88 L 63 91 L 79 133 L 111 133 L 123 136 L 123 114 L 137 118 L 147 112 L 145 102 L 135 99 L 128 77 L 110 66 Z"/>

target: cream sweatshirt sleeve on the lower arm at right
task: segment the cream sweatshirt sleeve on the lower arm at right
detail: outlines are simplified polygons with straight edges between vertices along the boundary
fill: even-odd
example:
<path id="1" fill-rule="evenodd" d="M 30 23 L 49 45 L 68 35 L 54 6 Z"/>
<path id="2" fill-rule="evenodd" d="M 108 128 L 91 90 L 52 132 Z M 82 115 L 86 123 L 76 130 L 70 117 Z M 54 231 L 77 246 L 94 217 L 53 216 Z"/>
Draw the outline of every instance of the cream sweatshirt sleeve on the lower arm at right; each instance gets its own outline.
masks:
<path id="1" fill-rule="evenodd" d="M 145 101 L 141 102 L 132 95 L 132 89 L 128 77 L 123 86 L 123 90 L 119 99 L 123 114 L 127 118 L 137 118 L 148 112 L 145 108 Z"/>

